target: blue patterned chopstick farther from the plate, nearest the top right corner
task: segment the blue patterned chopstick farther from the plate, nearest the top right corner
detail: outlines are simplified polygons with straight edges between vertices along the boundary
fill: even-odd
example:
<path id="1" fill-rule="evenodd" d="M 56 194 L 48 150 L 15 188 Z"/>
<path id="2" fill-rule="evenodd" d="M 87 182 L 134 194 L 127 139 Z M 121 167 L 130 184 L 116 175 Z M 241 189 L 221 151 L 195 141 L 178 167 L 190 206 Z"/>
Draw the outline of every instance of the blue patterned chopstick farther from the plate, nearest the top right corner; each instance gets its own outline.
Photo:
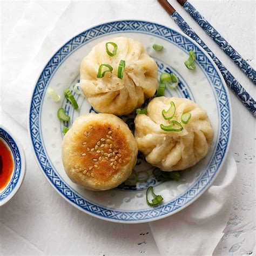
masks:
<path id="1" fill-rule="evenodd" d="M 256 71 L 250 66 L 245 59 L 220 35 L 220 33 L 213 28 L 213 26 L 204 18 L 199 11 L 187 0 L 177 0 L 186 12 L 203 28 L 203 30 L 210 36 L 215 43 L 230 57 L 233 62 L 241 69 L 245 75 L 256 84 Z"/>

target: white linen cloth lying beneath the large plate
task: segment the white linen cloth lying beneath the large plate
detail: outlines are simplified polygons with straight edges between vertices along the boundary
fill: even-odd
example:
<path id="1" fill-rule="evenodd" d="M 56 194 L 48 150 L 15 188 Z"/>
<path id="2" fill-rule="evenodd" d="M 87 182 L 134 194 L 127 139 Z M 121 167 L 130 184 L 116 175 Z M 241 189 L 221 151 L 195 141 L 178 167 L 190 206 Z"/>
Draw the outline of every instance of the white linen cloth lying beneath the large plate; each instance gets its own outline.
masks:
<path id="1" fill-rule="evenodd" d="M 39 73 L 60 46 L 87 27 L 117 18 L 159 22 L 157 17 L 162 17 L 160 23 L 175 27 L 154 0 L 31 2 L 3 51 L 3 110 L 26 128 L 30 96 Z M 231 210 L 236 172 L 229 155 L 203 196 L 183 211 L 150 223 L 161 255 L 213 253 Z"/>

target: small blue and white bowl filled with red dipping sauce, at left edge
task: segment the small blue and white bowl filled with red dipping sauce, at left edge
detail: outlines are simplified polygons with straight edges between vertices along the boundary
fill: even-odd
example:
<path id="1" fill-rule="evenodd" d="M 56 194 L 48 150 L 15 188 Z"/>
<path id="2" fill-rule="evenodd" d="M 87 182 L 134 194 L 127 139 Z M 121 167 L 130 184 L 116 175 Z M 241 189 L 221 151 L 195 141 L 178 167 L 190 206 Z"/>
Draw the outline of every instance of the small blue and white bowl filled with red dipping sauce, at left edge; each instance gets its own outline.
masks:
<path id="1" fill-rule="evenodd" d="M 21 144 L 0 126 L 0 206 L 19 190 L 25 177 L 25 157 Z"/>

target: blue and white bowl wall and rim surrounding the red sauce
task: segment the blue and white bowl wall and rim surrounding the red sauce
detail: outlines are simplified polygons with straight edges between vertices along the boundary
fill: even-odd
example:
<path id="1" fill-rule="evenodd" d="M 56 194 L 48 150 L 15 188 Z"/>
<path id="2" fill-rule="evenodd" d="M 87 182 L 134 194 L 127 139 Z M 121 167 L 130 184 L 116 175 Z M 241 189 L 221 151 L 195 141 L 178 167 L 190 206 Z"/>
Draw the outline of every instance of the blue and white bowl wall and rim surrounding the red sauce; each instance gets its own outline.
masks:
<path id="1" fill-rule="evenodd" d="M 14 139 L 5 127 L 0 127 L 0 140 L 8 147 L 14 160 L 14 170 L 12 170 L 9 183 L 0 190 L 0 206 L 7 203 L 17 193 L 25 177 L 25 157 L 21 144 Z"/>

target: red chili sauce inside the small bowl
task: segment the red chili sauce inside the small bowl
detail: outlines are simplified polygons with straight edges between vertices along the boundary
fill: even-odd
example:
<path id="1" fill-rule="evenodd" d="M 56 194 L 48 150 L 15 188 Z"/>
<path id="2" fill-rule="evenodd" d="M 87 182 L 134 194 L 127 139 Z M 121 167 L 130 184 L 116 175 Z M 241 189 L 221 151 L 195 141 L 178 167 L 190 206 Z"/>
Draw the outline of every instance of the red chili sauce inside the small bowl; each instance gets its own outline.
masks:
<path id="1" fill-rule="evenodd" d="M 0 139 L 0 191 L 6 187 L 14 171 L 14 160 L 11 151 Z"/>

